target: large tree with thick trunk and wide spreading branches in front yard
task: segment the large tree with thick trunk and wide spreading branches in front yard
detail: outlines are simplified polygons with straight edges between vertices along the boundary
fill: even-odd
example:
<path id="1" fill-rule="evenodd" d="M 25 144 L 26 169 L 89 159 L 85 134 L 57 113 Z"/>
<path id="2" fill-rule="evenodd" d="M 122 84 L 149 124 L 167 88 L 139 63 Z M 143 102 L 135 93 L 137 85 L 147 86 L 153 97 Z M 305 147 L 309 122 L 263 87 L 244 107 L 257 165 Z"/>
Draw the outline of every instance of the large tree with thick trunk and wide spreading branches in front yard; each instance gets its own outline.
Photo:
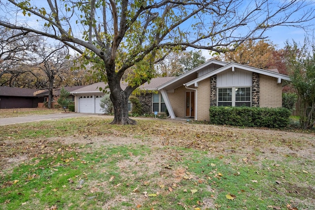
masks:
<path id="1" fill-rule="evenodd" d="M 233 50 L 267 38 L 276 26 L 307 27 L 315 8 L 308 0 L 1 0 L 0 25 L 63 42 L 95 63 L 108 83 L 113 123 L 128 118 L 127 100 L 150 81 L 154 64 L 188 47 Z M 128 87 L 120 80 L 132 69 Z M 128 71 L 129 72 L 129 71 Z"/>

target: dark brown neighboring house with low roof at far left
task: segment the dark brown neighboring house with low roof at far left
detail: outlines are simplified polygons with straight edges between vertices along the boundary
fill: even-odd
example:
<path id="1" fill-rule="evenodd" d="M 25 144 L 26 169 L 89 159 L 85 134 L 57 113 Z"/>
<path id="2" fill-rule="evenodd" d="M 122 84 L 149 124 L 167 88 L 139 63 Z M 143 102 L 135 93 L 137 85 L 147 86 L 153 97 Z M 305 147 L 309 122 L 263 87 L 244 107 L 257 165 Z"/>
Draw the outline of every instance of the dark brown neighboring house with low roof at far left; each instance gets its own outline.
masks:
<path id="1" fill-rule="evenodd" d="M 0 109 L 36 108 L 43 97 L 36 96 L 35 89 L 0 86 Z"/>

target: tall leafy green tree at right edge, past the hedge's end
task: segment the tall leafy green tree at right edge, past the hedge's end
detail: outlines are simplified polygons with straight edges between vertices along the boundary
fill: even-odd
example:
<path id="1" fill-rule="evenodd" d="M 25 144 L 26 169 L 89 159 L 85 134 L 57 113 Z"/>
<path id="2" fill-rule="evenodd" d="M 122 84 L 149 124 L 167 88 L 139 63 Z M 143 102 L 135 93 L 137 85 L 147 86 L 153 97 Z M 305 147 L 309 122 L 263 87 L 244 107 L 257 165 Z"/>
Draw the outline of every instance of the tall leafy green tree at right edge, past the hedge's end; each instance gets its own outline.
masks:
<path id="1" fill-rule="evenodd" d="M 301 128 L 315 125 L 315 39 L 305 39 L 300 48 L 296 42 L 286 43 L 287 68 L 298 96 L 297 113 Z"/>

